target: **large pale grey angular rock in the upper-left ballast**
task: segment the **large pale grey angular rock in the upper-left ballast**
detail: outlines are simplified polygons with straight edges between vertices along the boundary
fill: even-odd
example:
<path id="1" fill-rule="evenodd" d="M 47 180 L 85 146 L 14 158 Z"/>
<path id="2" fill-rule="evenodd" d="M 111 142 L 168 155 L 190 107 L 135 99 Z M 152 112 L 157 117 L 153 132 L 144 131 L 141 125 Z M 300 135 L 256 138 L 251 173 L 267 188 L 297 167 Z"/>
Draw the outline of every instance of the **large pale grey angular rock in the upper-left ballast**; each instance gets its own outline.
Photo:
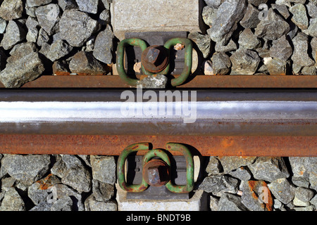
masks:
<path id="1" fill-rule="evenodd" d="M 65 39 L 73 47 L 81 47 L 97 30 L 99 30 L 97 20 L 75 9 L 64 11 L 59 21 L 61 39 Z"/>

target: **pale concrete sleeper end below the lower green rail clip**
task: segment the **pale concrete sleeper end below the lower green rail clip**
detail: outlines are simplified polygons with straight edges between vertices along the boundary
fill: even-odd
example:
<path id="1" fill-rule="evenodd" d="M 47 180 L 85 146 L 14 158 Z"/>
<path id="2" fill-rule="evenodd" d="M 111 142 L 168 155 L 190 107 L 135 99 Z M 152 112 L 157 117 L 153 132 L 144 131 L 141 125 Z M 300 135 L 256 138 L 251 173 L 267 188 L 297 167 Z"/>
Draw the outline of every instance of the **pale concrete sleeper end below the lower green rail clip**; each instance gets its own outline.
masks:
<path id="1" fill-rule="evenodd" d="M 127 199 L 127 192 L 116 184 L 118 211 L 203 211 L 206 210 L 206 193 L 199 190 L 189 200 L 137 200 Z M 205 204 L 204 204 L 205 203 Z"/>

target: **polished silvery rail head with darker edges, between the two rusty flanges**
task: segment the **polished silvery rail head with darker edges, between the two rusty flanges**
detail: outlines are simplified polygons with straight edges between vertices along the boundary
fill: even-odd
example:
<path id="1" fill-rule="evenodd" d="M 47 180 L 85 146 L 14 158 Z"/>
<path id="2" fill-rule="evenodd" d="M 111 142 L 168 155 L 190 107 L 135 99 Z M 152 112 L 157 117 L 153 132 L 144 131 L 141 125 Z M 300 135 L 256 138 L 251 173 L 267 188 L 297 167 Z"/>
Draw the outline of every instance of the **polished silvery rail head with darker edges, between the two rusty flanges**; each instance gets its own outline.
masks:
<path id="1" fill-rule="evenodd" d="M 189 95 L 188 102 L 163 104 L 126 102 L 123 91 L 127 90 L 1 89 L 0 134 L 317 136 L 316 90 L 197 90 L 196 99 L 190 90 L 180 91 Z M 129 91 L 137 96 L 138 90 Z M 169 107 L 176 112 L 187 104 L 194 109 L 194 122 L 185 122 L 184 110 L 167 113 Z M 144 113 L 144 108 L 158 105 L 165 113 Z M 143 111 L 123 113 L 127 107 Z"/>

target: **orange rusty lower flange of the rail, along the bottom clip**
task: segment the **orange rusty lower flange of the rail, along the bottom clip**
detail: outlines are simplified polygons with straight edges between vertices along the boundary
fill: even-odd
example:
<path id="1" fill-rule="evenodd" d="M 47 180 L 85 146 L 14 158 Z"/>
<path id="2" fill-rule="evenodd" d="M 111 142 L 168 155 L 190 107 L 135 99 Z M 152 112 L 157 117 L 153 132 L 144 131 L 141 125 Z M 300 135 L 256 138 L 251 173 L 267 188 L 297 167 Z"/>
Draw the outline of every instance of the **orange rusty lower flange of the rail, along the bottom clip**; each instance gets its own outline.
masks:
<path id="1" fill-rule="evenodd" d="M 120 155 L 132 143 L 153 148 L 183 143 L 197 155 L 210 156 L 317 156 L 316 136 L 107 136 L 1 134 L 0 153 Z M 139 151 L 144 155 L 146 151 Z M 173 153 L 179 155 L 180 153 Z"/>

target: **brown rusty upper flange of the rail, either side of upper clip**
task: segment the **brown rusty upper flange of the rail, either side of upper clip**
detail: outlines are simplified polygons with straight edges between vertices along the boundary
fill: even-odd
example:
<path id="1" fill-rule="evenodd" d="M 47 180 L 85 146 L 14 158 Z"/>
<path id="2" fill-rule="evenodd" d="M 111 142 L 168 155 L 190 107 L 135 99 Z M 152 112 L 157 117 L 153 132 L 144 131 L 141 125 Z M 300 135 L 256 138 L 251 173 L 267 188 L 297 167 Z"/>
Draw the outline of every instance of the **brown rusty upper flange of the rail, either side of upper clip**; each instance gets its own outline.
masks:
<path id="1" fill-rule="evenodd" d="M 141 76 L 137 75 L 137 79 Z M 179 77 L 179 75 L 175 75 Z M 4 87 L 0 83 L 0 87 Z M 44 75 L 32 82 L 27 82 L 23 88 L 129 88 L 119 76 L 100 75 L 100 76 L 52 76 Z M 189 75 L 185 84 L 177 89 L 196 89 L 196 88 L 316 88 L 317 76 L 311 75 L 225 75 L 225 76 L 206 76 Z"/>

